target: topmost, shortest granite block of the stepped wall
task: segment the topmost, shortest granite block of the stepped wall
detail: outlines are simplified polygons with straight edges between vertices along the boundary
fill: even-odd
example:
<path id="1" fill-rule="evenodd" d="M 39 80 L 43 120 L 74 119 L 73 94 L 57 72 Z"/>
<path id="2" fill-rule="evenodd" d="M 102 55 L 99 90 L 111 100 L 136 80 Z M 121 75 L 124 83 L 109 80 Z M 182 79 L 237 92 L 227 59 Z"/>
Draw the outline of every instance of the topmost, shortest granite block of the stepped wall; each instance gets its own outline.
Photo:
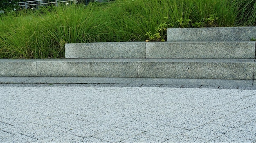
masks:
<path id="1" fill-rule="evenodd" d="M 168 28 L 167 41 L 250 41 L 256 27 Z"/>

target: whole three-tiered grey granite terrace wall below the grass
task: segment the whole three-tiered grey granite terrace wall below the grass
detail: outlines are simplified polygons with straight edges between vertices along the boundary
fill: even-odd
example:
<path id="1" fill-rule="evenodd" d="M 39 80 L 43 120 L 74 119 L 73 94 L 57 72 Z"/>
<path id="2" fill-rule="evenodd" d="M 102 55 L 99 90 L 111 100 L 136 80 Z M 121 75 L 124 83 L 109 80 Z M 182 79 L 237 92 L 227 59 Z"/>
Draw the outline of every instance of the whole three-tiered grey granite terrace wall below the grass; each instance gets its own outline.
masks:
<path id="1" fill-rule="evenodd" d="M 0 59 L 0 76 L 256 79 L 255 27 L 172 28 L 167 42 L 71 43 L 66 59 Z"/>

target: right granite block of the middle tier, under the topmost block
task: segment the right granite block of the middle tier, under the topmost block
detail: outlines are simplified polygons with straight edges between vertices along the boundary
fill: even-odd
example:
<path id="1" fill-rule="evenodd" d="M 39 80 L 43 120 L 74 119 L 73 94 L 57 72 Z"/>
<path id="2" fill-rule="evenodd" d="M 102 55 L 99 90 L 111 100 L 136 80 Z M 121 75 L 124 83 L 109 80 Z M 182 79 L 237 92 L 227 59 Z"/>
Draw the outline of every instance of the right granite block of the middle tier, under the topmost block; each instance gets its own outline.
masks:
<path id="1" fill-rule="evenodd" d="M 255 58 L 255 41 L 148 42 L 146 58 Z"/>

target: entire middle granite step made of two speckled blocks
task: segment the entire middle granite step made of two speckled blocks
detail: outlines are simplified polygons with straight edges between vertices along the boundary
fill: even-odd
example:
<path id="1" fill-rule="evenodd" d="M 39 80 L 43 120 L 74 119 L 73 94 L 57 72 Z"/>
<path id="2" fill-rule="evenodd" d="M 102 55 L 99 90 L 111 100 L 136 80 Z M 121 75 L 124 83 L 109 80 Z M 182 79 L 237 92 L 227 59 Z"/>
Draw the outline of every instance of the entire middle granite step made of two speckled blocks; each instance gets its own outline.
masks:
<path id="1" fill-rule="evenodd" d="M 69 43 L 65 58 L 255 58 L 255 41 Z"/>

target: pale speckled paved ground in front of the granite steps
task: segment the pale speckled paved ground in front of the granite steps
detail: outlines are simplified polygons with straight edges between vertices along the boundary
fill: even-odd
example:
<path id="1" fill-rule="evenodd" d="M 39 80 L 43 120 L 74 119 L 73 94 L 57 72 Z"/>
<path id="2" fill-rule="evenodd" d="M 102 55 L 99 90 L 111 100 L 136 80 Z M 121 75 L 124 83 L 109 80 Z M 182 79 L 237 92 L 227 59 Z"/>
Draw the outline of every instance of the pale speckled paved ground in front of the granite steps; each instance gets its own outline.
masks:
<path id="1" fill-rule="evenodd" d="M 256 142 L 256 90 L 87 85 L 1 85 L 0 142 Z"/>

